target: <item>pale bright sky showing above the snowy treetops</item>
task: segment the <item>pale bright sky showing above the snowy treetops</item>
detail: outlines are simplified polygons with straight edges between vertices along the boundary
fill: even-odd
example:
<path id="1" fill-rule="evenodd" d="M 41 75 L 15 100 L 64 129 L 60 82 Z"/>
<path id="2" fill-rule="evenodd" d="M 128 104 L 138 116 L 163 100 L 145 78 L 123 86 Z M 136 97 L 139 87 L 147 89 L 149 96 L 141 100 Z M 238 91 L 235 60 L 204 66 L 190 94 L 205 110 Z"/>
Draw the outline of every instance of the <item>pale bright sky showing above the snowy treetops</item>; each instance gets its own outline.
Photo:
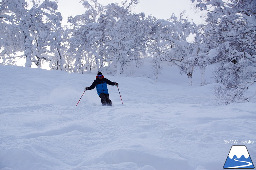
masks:
<path id="1" fill-rule="evenodd" d="M 76 16 L 83 14 L 85 8 L 80 0 L 58 0 L 59 12 L 63 17 L 63 23 L 67 23 L 68 16 Z M 89 0 L 88 0 L 89 1 Z M 108 3 L 121 3 L 122 0 L 98 0 L 103 5 Z M 191 0 L 139 0 L 139 4 L 134 9 L 134 13 L 144 12 L 146 16 L 153 15 L 158 19 L 169 19 L 174 13 L 179 16 L 183 10 L 186 10 L 185 17 L 192 18 L 199 24 L 201 23 L 200 14 L 196 14 L 195 10 L 192 9 Z"/>

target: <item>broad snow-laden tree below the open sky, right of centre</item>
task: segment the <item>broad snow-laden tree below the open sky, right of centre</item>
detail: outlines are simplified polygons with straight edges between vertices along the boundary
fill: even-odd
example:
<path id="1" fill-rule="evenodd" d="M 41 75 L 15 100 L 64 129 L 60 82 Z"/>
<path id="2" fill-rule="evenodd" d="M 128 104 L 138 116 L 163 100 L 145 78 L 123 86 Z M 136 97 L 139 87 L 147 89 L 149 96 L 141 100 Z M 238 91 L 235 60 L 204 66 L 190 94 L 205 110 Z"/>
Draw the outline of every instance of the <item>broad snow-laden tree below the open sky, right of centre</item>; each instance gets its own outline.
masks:
<path id="1" fill-rule="evenodd" d="M 187 74 L 191 86 L 198 46 L 189 42 L 188 37 L 197 34 L 197 27 L 194 22 L 183 19 L 182 15 L 179 19 L 173 14 L 167 21 L 156 21 L 151 27 L 154 43 L 150 46 L 162 61 L 171 62 L 180 68 L 181 73 Z"/>

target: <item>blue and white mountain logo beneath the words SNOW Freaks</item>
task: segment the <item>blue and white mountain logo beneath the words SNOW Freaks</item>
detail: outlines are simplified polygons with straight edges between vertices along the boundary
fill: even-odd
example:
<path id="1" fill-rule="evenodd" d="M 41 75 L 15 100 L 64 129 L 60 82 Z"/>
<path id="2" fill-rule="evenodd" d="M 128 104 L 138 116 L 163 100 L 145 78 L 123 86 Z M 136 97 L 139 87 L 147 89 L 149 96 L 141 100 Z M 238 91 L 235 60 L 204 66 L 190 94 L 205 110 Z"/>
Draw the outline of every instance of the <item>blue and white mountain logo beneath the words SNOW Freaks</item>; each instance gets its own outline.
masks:
<path id="1" fill-rule="evenodd" d="M 224 169 L 248 168 L 253 169 L 254 165 L 248 153 L 246 146 L 233 145 L 229 151 L 227 160 L 223 166 Z"/>

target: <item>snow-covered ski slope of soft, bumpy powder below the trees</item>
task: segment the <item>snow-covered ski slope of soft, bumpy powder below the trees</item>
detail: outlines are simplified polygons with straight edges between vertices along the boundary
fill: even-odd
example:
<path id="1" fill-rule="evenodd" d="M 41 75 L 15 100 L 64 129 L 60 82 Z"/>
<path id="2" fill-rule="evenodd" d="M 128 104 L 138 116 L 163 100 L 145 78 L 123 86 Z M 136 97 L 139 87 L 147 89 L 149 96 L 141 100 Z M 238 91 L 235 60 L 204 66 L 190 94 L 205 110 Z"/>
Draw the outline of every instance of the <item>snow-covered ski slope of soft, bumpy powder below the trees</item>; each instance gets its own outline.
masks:
<path id="1" fill-rule="evenodd" d="M 101 106 L 95 74 L 0 66 L 1 170 L 221 170 L 231 143 L 256 162 L 256 104 L 219 106 L 174 70 L 115 77 Z"/>

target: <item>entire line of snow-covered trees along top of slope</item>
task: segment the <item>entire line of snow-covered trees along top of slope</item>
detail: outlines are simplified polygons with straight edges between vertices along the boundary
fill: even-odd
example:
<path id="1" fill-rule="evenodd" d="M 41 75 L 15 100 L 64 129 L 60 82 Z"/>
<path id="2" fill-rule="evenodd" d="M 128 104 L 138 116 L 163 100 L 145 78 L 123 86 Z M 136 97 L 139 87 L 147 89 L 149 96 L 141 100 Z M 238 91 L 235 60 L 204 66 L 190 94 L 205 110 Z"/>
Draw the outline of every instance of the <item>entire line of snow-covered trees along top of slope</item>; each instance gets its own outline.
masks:
<path id="1" fill-rule="evenodd" d="M 161 63 L 169 62 L 188 76 L 190 86 L 195 69 L 201 70 L 205 85 L 205 68 L 214 65 L 219 103 L 250 101 L 256 95 L 245 95 L 256 82 L 256 1 L 191 1 L 205 11 L 204 24 L 184 13 L 168 20 L 133 13 L 138 0 L 105 6 L 81 0 L 85 13 L 62 25 L 57 2 L 2 0 L 0 65 L 24 59 L 27 67 L 47 64 L 67 72 L 97 69 L 118 75 L 151 57 L 156 79 Z"/>

